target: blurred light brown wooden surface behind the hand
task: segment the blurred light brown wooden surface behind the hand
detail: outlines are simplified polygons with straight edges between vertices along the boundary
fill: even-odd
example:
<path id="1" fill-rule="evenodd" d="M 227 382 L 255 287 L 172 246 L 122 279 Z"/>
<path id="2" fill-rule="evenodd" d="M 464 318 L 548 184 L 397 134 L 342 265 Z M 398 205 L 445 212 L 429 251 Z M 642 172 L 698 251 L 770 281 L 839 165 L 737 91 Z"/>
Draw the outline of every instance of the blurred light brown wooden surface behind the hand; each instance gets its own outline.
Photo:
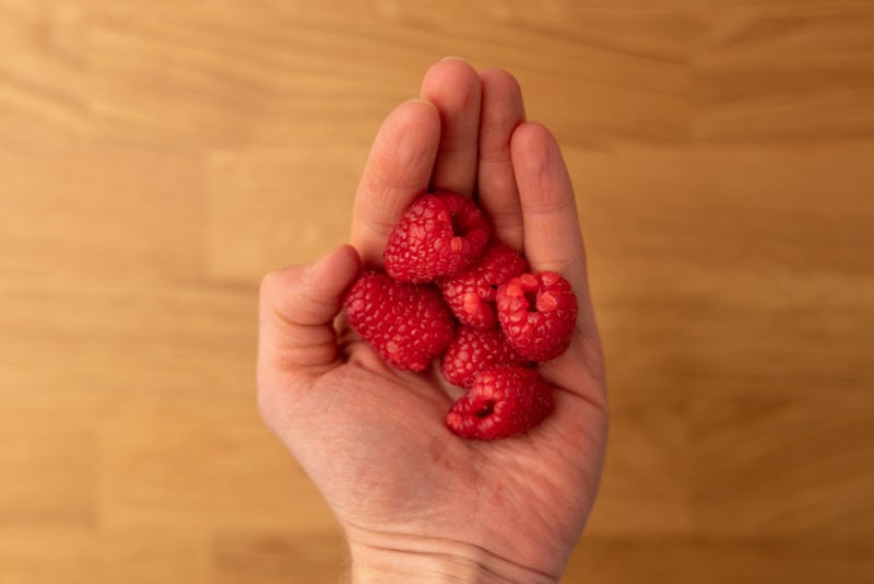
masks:
<path id="1" fill-rule="evenodd" d="M 0 582 L 327 583 L 261 275 L 446 55 L 562 142 L 610 365 L 568 583 L 874 581 L 870 0 L 0 0 Z"/>

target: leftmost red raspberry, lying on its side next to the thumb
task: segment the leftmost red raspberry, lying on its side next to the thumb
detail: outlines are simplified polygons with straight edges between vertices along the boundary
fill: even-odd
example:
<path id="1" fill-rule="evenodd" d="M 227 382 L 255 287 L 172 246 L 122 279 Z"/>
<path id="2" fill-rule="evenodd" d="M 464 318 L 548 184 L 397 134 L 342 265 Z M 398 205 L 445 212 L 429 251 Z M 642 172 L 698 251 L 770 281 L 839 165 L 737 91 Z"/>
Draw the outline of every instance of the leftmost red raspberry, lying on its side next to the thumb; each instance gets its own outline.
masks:
<path id="1" fill-rule="evenodd" d="M 422 371 L 452 340 L 454 322 L 439 291 L 368 271 L 349 291 L 349 324 L 392 365 Z"/>

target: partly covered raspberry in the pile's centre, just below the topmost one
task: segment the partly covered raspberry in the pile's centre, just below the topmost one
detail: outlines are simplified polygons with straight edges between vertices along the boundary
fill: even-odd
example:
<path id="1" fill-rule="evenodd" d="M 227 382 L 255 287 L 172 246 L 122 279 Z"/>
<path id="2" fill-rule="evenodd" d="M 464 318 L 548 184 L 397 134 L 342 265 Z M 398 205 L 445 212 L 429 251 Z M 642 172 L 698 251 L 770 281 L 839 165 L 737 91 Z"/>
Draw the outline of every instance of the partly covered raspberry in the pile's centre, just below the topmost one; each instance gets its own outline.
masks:
<path id="1" fill-rule="evenodd" d="M 495 242 L 482 259 L 454 276 L 437 281 L 456 317 L 476 328 L 496 323 L 495 295 L 499 285 L 528 271 L 528 261 L 515 249 Z"/>

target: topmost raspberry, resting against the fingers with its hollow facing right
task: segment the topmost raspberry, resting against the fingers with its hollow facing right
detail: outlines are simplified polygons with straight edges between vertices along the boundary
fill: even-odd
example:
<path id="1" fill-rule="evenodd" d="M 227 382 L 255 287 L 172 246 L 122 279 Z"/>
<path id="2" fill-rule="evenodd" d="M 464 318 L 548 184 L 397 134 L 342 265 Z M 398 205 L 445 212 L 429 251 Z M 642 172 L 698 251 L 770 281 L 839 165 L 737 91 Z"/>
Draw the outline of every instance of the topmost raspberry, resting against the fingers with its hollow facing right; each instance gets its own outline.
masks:
<path id="1" fill-rule="evenodd" d="M 404 212 L 382 254 L 386 271 L 402 282 L 430 282 L 483 255 L 492 227 L 474 202 L 454 192 L 420 197 Z"/>

